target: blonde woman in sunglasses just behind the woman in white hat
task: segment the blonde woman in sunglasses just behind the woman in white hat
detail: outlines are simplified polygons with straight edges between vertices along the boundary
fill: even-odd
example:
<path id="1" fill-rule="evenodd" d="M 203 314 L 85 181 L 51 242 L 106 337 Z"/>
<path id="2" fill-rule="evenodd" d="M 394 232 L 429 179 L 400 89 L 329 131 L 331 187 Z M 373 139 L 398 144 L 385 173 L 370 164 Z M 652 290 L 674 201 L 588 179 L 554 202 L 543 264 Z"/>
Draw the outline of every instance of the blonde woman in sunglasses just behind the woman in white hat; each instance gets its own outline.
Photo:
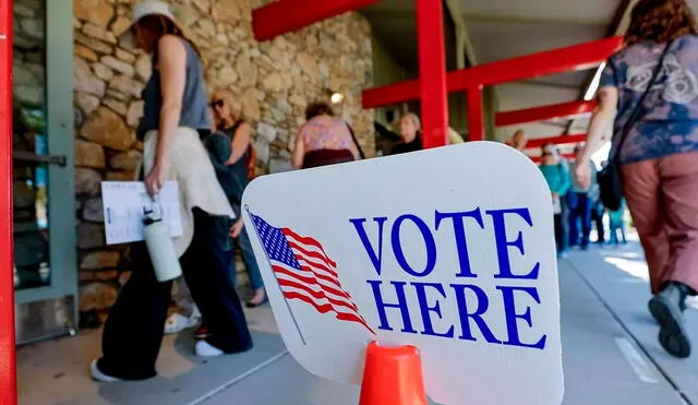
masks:
<path id="1" fill-rule="evenodd" d="M 240 216 L 242 193 L 251 180 L 250 165 L 255 164 L 251 142 L 252 127 L 239 118 L 240 112 L 236 111 L 233 96 L 229 90 L 217 90 L 212 97 L 210 107 L 214 111 L 217 132 L 207 136 L 204 145 L 212 155 L 218 180 L 233 211 Z M 242 216 L 230 229 L 230 237 L 240 249 L 242 262 L 250 276 L 250 286 L 254 291 L 246 307 L 258 307 L 266 302 L 266 293 Z"/>

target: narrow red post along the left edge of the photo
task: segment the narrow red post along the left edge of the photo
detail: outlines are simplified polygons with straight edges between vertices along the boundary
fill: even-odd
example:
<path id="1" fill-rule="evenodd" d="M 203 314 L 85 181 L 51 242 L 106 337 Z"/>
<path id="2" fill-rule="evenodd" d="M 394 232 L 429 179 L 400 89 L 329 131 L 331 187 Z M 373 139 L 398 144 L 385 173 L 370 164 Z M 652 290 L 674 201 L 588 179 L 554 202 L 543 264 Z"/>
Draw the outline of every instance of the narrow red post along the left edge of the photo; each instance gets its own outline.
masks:
<path id="1" fill-rule="evenodd" d="M 17 403 L 12 255 L 12 0 L 0 1 L 0 404 Z"/>

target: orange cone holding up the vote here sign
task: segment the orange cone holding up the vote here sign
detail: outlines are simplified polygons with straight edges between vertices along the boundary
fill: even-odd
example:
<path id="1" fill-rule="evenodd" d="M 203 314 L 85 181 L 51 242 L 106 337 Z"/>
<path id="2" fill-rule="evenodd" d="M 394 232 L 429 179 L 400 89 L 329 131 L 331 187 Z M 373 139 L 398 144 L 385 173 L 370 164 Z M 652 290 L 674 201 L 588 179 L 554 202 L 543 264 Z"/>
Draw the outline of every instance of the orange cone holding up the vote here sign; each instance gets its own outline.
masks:
<path id="1" fill-rule="evenodd" d="M 426 405 L 422 362 L 414 346 L 383 347 L 371 342 L 359 405 Z"/>

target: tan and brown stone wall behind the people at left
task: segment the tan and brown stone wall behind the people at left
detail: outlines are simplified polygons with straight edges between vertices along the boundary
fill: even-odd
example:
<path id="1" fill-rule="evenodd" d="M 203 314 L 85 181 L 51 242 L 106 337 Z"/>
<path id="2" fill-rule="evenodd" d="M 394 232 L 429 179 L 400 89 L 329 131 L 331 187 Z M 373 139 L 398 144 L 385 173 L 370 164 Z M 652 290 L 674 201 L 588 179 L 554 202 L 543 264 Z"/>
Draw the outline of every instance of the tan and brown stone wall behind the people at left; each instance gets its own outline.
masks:
<path id="1" fill-rule="evenodd" d="M 129 180 L 141 158 L 134 129 L 149 58 L 119 47 L 130 0 L 74 0 L 75 192 L 81 309 L 105 309 L 128 278 L 128 248 L 105 247 L 99 182 Z M 372 85 L 369 23 L 359 14 L 335 17 L 267 43 L 252 37 L 256 0 L 176 0 L 172 10 L 207 60 L 208 90 L 227 86 L 253 122 L 262 174 L 284 166 L 308 103 L 345 94 L 338 108 L 372 156 L 373 112 L 361 90 Z"/>

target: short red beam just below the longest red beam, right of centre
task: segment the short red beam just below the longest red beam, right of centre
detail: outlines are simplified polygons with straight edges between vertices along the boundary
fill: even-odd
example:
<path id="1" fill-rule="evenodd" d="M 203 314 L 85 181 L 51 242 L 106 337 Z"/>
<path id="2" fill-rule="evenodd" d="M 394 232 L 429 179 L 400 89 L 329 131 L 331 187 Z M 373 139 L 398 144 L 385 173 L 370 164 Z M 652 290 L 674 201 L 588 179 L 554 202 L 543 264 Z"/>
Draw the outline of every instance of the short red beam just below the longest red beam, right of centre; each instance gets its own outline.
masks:
<path id="1" fill-rule="evenodd" d="M 597 102 L 571 102 L 550 106 L 497 112 L 495 126 L 508 127 L 519 123 L 538 122 L 556 118 L 575 118 L 593 112 Z"/>

